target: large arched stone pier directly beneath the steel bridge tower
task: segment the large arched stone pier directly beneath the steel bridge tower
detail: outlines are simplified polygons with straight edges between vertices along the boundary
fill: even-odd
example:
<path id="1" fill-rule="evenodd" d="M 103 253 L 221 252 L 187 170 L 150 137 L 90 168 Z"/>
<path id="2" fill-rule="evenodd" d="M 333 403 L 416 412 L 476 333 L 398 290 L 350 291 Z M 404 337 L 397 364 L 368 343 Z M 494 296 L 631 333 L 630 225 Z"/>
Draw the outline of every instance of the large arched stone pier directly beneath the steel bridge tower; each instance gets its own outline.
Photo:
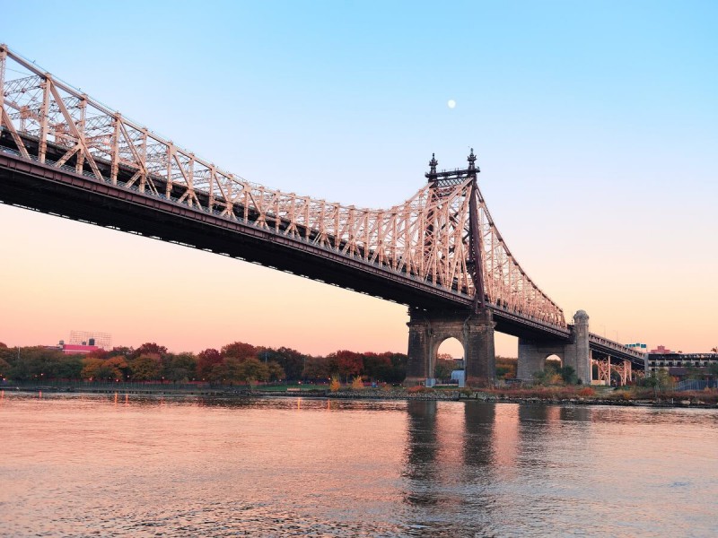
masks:
<path id="1" fill-rule="evenodd" d="M 486 386 L 495 382 L 494 320 L 489 310 L 409 310 L 407 378 L 404 386 L 421 385 L 433 377 L 439 346 L 456 338 L 464 347 L 467 385 Z"/>

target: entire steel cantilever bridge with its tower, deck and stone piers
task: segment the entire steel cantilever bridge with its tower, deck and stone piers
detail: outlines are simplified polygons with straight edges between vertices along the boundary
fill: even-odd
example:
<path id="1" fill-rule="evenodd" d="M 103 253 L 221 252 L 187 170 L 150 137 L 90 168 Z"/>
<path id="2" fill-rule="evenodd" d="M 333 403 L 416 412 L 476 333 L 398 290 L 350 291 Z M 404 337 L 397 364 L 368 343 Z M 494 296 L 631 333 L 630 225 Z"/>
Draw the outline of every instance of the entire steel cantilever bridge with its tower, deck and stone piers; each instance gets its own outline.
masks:
<path id="1" fill-rule="evenodd" d="M 495 329 L 520 337 L 525 377 L 549 349 L 584 380 L 592 350 L 643 360 L 589 334 L 587 317 L 567 324 L 531 281 L 488 212 L 473 151 L 466 169 L 450 172 L 432 158 L 428 181 L 405 203 L 362 209 L 233 175 L 4 45 L 0 86 L 0 201 L 405 304 L 408 382 L 432 377 L 436 350 L 450 336 L 464 344 L 468 377 L 493 379 Z"/>

